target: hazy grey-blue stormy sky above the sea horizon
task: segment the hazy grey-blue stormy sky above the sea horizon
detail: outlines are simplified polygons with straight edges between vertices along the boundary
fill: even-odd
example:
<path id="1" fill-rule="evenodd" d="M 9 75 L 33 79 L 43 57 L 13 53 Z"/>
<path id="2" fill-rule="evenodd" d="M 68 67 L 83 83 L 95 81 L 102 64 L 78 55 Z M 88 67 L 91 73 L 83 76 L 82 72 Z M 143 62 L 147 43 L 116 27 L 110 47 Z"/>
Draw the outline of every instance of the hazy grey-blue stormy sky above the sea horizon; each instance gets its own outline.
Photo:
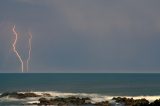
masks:
<path id="1" fill-rule="evenodd" d="M 0 73 L 160 72 L 160 0 L 0 0 Z M 26 66 L 25 66 L 26 69 Z"/>

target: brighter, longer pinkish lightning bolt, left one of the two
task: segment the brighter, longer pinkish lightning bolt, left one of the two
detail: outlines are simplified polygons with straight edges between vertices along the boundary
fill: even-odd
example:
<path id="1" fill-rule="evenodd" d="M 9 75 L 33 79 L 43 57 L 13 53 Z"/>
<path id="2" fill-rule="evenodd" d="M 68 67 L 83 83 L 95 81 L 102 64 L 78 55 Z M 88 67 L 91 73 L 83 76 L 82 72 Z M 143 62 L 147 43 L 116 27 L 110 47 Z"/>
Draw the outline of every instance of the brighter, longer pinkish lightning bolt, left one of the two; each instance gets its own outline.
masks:
<path id="1" fill-rule="evenodd" d="M 15 40 L 14 40 L 12 46 L 13 46 L 13 51 L 15 52 L 16 56 L 18 57 L 18 59 L 19 59 L 19 61 L 21 63 L 21 71 L 23 72 L 23 70 L 24 70 L 23 60 L 22 60 L 21 56 L 19 55 L 19 53 L 18 53 L 18 51 L 16 49 L 18 34 L 17 34 L 15 28 L 16 28 L 16 26 L 14 25 L 13 28 L 12 28 L 12 31 L 13 31 L 13 34 L 15 35 Z"/>

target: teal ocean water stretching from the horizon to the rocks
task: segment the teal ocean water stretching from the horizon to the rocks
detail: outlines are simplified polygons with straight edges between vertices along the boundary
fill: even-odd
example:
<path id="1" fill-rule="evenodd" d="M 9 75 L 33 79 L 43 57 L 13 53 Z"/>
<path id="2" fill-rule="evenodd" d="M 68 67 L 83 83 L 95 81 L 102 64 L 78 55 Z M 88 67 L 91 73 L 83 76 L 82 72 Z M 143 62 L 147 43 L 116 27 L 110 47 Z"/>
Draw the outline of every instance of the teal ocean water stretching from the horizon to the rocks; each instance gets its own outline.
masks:
<path id="1" fill-rule="evenodd" d="M 0 93 L 49 92 L 101 100 L 116 96 L 160 97 L 160 74 L 144 73 L 22 73 L 0 74 Z M 98 98 L 99 96 L 99 98 Z M 0 104 L 4 104 L 0 99 Z M 17 103 L 12 101 L 11 103 Z M 7 102 L 8 103 L 8 102 Z"/>

